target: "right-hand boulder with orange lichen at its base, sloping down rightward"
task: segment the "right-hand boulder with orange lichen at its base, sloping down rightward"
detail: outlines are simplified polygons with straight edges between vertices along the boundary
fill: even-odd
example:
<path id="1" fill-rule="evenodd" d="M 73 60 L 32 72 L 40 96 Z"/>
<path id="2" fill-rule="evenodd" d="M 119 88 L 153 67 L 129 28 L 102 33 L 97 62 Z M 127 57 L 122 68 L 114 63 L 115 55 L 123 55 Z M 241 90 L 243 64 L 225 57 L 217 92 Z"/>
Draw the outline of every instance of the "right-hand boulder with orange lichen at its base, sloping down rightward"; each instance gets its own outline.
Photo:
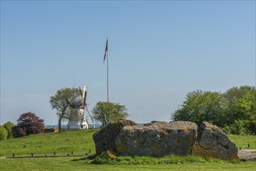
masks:
<path id="1" fill-rule="evenodd" d="M 192 154 L 225 160 L 239 159 L 237 146 L 219 127 L 208 122 L 198 127 L 198 139 L 193 145 Z"/>

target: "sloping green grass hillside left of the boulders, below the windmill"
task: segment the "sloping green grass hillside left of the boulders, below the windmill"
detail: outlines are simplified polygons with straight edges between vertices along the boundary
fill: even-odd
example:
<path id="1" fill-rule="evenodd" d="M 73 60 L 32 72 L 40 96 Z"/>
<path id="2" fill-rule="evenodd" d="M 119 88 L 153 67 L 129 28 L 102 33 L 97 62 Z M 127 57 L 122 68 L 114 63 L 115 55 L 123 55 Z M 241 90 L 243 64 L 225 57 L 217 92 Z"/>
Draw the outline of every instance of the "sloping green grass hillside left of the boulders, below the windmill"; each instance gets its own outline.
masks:
<path id="1" fill-rule="evenodd" d="M 89 131 L 63 131 L 51 134 L 32 134 L 23 138 L 12 138 L 0 141 L 0 156 L 15 155 L 68 155 L 72 151 L 75 155 L 95 152 L 93 134 Z"/>

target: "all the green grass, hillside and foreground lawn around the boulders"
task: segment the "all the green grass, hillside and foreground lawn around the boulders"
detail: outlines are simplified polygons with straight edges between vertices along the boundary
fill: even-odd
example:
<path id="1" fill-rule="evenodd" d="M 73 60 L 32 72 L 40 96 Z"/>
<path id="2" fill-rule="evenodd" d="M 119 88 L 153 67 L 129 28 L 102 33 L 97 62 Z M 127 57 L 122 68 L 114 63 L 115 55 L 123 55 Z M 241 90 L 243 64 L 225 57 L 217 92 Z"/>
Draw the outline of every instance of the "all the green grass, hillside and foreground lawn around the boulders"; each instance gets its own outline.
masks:
<path id="1" fill-rule="evenodd" d="M 96 130 L 89 131 L 63 131 L 57 134 L 33 134 L 23 138 L 13 138 L 0 141 L 0 156 L 30 156 L 37 155 L 67 155 L 73 151 L 74 155 L 85 155 L 91 149 L 95 154 L 93 134 Z M 229 135 L 237 147 L 256 148 L 256 137 L 245 135 Z M 97 161 L 101 164 L 95 165 Z M 163 161 L 163 162 L 159 162 Z M 131 164 L 132 163 L 132 164 Z M 188 156 L 169 156 L 163 159 L 147 157 L 118 158 L 106 162 L 84 157 L 56 157 L 56 158 L 23 158 L 0 159 L 0 170 L 254 170 L 256 162 L 226 162 L 216 159 L 202 159 Z"/>

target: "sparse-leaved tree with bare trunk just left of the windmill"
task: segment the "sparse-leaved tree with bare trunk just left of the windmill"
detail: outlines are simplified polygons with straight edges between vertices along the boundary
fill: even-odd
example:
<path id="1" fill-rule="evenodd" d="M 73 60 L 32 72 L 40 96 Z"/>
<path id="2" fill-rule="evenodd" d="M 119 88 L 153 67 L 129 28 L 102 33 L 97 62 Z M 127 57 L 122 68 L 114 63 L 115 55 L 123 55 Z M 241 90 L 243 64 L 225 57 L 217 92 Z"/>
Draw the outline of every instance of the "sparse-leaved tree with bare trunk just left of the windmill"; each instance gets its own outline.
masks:
<path id="1" fill-rule="evenodd" d="M 61 120 L 73 118 L 78 112 L 73 110 L 71 104 L 79 98 L 79 89 L 59 89 L 54 96 L 50 97 L 51 107 L 57 110 L 58 131 L 61 132 Z"/>

